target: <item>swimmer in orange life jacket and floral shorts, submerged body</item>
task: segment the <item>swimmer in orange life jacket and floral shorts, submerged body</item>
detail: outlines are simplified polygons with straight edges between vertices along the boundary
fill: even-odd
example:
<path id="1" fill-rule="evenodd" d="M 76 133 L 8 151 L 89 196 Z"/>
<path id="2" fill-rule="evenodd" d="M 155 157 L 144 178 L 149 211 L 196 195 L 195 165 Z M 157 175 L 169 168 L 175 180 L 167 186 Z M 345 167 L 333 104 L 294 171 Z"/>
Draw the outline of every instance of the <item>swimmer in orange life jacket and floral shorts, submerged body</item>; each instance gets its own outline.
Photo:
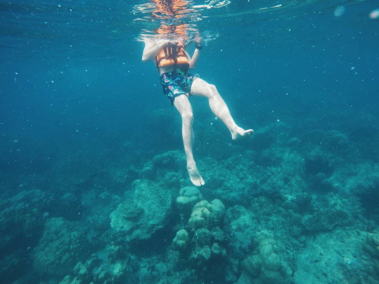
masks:
<path id="1" fill-rule="evenodd" d="M 174 1 L 171 0 L 171 2 Z M 183 32 L 182 35 L 185 37 L 185 30 Z M 235 124 L 227 105 L 214 85 L 205 82 L 197 73 L 188 73 L 189 69 L 195 68 L 200 51 L 203 49 L 201 37 L 195 37 L 193 42 L 195 43 L 195 51 L 191 58 L 182 41 L 145 39 L 142 60 L 143 62 L 154 60 L 155 66 L 161 75 L 163 92 L 169 98 L 171 105 L 182 116 L 182 135 L 188 173 L 192 183 L 195 186 L 201 186 L 204 185 L 204 179 L 197 170 L 192 152 L 194 139 L 192 129 L 193 114 L 188 97 L 207 97 L 212 112 L 223 121 L 229 129 L 233 140 L 250 137 L 253 134 L 253 130 L 244 130 Z"/>

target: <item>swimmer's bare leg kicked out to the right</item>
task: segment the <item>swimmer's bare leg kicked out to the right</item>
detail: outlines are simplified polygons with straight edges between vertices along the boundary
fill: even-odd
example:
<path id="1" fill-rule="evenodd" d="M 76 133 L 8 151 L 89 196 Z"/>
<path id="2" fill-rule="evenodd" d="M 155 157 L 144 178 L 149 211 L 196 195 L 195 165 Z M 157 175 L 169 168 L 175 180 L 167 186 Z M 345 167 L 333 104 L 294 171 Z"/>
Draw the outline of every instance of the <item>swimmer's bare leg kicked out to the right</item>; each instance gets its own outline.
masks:
<path id="1" fill-rule="evenodd" d="M 223 98 L 217 92 L 214 85 L 208 84 L 205 80 L 194 77 L 191 86 L 191 95 L 194 96 L 205 96 L 209 100 L 209 106 L 215 116 L 220 118 L 226 127 L 229 129 L 233 140 L 237 140 L 243 137 L 251 137 L 254 131 L 252 129 L 244 130 L 238 127 L 232 116 L 228 106 L 225 104 Z"/>

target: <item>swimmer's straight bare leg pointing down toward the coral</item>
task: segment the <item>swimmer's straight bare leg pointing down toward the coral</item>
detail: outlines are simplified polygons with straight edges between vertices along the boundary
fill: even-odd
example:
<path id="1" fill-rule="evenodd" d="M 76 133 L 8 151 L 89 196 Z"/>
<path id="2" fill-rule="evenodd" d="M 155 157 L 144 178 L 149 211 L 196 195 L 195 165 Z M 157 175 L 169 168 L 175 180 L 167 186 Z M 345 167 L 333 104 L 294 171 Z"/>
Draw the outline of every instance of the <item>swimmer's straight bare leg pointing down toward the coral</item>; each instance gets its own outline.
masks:
<path id="1" fill-rule="evenodd" d="M 193 145 L 193 113 L 192 107 L 186 95 L 179 95 L 175 97 L 174 107 L 182 116 L 182 136 L 184 151 L 186 152 L 187 157 L 187 170 L 192 181 L 192 184 L 195 186 L 204 185 L 204 179 L 197 170 L 195 160 L 193 158 L 192 145 Z"/>

